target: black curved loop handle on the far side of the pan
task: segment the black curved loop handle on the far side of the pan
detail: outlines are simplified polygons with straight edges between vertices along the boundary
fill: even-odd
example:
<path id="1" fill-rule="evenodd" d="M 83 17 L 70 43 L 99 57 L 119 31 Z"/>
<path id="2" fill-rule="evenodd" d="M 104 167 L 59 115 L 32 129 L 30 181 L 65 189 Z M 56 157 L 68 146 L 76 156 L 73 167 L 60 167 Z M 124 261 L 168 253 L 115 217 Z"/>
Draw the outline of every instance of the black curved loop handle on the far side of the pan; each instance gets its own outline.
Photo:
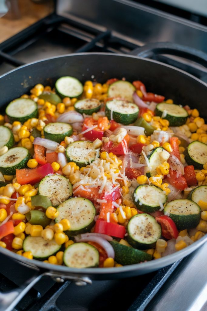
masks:
<path id="1" fill-rule="evenodd" d="M 207 67 L 207 54 L 197 49 L 174 44 L 170 42 L 149 43 L 137 49 L 134 49 L 131 55 L 136 55 L 143 58 L 153 58 L 157 54 L 171 54 L 187 58 L 191 61 L 199 63 Z"/>

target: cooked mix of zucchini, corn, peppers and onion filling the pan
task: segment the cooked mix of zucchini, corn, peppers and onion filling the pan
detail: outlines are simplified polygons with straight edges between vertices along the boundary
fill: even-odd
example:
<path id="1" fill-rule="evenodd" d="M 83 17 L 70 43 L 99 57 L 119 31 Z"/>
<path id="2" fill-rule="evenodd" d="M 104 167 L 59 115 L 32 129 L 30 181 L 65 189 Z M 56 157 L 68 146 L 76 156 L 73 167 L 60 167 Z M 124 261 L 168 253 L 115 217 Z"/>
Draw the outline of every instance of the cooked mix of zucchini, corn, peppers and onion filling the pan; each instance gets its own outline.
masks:
<path id="1" fill-rule="evenodd" d="M 149 90 L 150 91 L 150 90 Z M 207 233 L 207 124 L 141 81 L 60 77 L 0 115 L 0 246 L 68 267 L 159 259 Z"/>

